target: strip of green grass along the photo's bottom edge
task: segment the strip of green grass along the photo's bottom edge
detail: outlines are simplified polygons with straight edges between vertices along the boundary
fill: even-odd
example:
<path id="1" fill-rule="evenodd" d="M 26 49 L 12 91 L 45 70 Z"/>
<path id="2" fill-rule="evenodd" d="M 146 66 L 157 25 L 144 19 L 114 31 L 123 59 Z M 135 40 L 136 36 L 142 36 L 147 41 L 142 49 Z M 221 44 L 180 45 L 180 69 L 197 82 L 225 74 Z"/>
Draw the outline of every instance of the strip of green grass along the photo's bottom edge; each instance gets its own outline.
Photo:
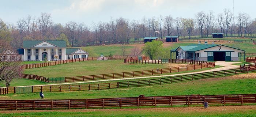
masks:
<path id="1" fill-rule="evenodd" d="M 214 109 L 133 109 L 133 110 L 95 110 L 80 112 L 23 112 L 23 113 L 1 113 L 0 117 L 255 117 L 255 109 L 225 109 L 226 107 Z M 187 108 L 190 109 L 190 108 Z M 222 110 L 221 110 L 222 109 Z M 184 110 L 184 111 L 182 111 Z M 198 110 L 198 111 L 196 111 Z"/>

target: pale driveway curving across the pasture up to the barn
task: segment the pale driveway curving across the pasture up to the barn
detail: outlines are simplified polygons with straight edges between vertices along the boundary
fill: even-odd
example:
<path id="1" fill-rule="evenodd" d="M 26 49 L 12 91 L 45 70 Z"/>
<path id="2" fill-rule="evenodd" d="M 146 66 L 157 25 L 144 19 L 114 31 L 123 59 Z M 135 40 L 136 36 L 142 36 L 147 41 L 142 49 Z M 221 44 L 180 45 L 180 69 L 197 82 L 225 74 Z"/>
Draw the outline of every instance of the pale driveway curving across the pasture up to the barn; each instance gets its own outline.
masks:
<path id="1" fill-rule="evenodd" d="M 133 78 L 108 79 L 108 80 L 95 80 L 95 81 L 86 81 L 86 82 L 73 82 L 73 83 L 58 83 L 58 84 L 31 85 L 31 86 L 50 86 L 50 85 L 63 85 L 63 84 L 78 84 L 78 83 L 106 82 L 106 81 L 128 80 L 128 79 L 158 78 L 158 77 L 166 77 L 166 76 L 188 75 L 188 74 L 192 74 L 192 73 L 203 73 L 203 72 L 212 72 L 212 71 L 221 71 L 221 70 L 239 68 L 238 65 L 232 65 L 232 64 L 234 64 L 234 63 L 241 63 L 241 62 L 217 61 L 217 62 L 215 63 L 215 65 L 221 65 L 221 66 L 224 66 L 224 67 L 215 68 L 215 69 L 209 69 L 209 70 L 204 70 L 204 71 L 198 71 L 198 72 L 178 73 L 178 74 L 158 75 L 158 76 L 143 76 L 143 77 L 133 77 Z M 17 87 L 31 87 L 31 86 L 17 86 Z"/>

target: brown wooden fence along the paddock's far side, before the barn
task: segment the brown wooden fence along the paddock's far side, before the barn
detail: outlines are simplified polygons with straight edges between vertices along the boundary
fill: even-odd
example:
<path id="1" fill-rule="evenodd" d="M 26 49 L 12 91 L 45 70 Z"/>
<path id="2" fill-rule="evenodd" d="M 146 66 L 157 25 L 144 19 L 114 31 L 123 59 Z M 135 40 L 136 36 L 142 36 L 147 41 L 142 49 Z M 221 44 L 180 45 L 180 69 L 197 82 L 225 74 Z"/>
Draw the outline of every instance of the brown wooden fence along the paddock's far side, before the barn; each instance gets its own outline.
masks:
<path id="1" fill-rule="evenodd" d="M 191 60 L 191 59 L 162 59 L 162 60 L 136 60 L 136 59 L 124 59 L 124 63 L 133 64 L 163 64 L 163 63 L 184 63 L 184 64 L 205 64 L 209 66 L 215 66 L 214 62 Z"/>

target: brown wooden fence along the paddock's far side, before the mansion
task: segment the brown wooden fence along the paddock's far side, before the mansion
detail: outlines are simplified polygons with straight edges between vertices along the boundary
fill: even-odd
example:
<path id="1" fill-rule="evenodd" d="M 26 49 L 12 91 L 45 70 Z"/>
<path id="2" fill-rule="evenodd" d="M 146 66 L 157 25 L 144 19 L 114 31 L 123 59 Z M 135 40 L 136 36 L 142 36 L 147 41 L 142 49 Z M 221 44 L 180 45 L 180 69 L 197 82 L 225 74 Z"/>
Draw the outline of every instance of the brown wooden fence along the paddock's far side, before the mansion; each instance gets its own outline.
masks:
<path id="1" fill-rule="evenodd" d="M 39 68 L 39 67 L 47 67 L 59 64 L 67 64 L 81 61 L 101 61 L 101 60 L 124 60 L 130 57 L 123 56 L 113 56 L 113 57 L 89 57 L 89 58 L 79 58 L 79 59 L 71 59 L 71 60 L 60 60 L 60 61 L 52 61 L 47 63 L 37 63 L 37 64 L 25 64 L 22 65 L 22 69 L 31 69 L 31 68 Z"/>

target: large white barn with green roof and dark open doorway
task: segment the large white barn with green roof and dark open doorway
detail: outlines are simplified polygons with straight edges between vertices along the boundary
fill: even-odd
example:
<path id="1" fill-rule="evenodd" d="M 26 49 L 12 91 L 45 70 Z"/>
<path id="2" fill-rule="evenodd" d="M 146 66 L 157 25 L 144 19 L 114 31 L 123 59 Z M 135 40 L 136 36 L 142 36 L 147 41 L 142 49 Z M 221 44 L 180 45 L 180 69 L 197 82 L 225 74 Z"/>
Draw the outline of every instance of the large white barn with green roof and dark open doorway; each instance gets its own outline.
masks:
<path id="1" fill-rule="evenodd" d="M 172 59 L 192 59 L 200 61 L 238 61 L 241 60 L 241 53 L 245 50 L 233 48 L 221 44 L 192 44 L 189 46 L 179 46 L 170 50 Z M 244 56 L 245 58 L 245 56 Z"/>

